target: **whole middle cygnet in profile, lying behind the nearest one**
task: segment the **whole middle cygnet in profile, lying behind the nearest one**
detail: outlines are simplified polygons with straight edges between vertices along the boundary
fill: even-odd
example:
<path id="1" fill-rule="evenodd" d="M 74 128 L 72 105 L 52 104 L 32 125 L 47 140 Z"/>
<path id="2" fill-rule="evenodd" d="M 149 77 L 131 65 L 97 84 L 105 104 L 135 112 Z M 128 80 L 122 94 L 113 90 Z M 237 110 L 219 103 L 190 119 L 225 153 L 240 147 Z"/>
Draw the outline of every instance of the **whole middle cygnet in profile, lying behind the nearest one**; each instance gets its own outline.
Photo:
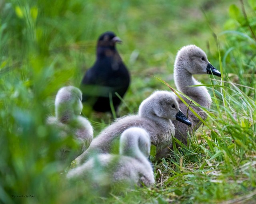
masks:
<path id="1" fill-rule="evenodd" d="M 160 151 L 172 143 L 174 125 L 171 120 L 179 120 L 186 125 L 191 125 L 180 111 L 174 93 L 163 90 L 155 91 L 140 104 L 137 115 L 119 118 L 103 129 L 100 135 L 92 140 L 90 147 L 76 158 L 76 162 L 83 163 L 93 152 L 109 153 L 114 141 L 130 127 L 145 129 L 150 135 L 151 143 L 156 146 L 157 151 Z"/>

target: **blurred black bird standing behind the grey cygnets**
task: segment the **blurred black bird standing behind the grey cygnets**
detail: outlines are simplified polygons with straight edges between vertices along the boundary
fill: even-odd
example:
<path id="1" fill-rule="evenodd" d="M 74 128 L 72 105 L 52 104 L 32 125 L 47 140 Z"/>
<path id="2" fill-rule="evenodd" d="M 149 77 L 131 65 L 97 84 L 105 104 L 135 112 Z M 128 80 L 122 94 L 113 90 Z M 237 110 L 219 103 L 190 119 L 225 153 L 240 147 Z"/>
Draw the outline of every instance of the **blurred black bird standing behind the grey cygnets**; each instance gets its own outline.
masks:
<path id="1" fill-rule="evenodd" d="M 96 62 L 88 69 L 82 79 L 80 89 L 83 102 L 97 112 L 115 112 L 130 84 L 130 74 L 124 65 L 116 43 L 121 39 L 108 31 L 100 35 L 97 44 Z"/>

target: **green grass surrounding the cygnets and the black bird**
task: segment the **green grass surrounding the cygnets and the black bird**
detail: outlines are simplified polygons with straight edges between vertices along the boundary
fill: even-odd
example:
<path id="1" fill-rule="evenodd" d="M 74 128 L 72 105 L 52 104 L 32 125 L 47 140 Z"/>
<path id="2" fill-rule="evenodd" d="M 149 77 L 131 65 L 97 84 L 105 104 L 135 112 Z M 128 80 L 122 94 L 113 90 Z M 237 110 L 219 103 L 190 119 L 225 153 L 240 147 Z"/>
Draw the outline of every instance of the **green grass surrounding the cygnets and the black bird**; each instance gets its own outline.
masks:
<path id="1" fill-rule="evenodd" d="M 256 4 L 241 2 L 1 1 L 0 203 L 254 203 Z M 57 90 L 79 86 L 106 30 L 123 40 L 118 51 L 132 76 L 120 115 L 136 113 L 153 90 L 168 90 L 155 77 L 174 86 L 173 63 L 184 45 L 204 49 L 223 78 L 196 76 L 209 88 L 212 109 L 187 146 L 154 165 L 156 185 L 98 198 L 60 175 L 54 153 L 67 141 L 45 120 Z M 83 112 L 96 134 L 111 122 Z"/>

